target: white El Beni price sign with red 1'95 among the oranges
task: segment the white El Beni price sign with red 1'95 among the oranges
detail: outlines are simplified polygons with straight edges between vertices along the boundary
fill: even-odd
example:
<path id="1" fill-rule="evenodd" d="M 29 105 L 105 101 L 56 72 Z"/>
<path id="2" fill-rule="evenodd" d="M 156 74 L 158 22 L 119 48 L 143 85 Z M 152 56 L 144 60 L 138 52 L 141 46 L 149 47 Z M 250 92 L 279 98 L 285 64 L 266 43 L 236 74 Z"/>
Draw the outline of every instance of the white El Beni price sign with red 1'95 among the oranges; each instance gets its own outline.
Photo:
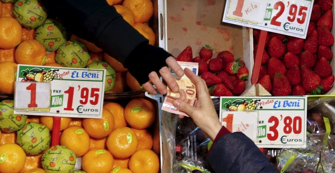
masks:
<path id="1" fill-rule="evenodd" d="M 18 65 L 14 113 L 101 118 L 105 69 Z"/>

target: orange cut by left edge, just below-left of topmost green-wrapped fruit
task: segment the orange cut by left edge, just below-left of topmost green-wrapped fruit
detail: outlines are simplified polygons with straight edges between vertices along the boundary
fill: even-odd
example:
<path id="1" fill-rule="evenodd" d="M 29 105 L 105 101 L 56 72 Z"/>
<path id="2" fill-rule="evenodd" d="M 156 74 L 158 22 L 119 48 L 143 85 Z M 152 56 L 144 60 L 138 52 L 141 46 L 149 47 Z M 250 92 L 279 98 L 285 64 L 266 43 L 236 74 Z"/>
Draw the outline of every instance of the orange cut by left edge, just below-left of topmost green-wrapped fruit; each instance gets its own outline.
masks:
<path id="1" fill-rule="evenodd" d="M 22 26 L 13 17 L 0 17 L 0 48 L 11 49 L 21 42 Z"/>

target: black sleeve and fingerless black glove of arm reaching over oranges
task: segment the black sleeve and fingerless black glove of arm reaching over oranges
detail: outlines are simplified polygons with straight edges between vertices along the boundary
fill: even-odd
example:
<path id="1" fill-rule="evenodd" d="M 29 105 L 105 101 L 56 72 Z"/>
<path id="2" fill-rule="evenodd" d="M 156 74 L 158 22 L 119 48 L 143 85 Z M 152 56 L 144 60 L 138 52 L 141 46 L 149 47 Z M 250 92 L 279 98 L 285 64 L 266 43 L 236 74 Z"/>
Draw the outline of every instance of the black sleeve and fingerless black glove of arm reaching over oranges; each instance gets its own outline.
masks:
<path id="1" fill-rule="evenodd" d="M 115 57 L 141 84 L 149 80 L 151 71 L 158 72 L 166 66 L 165 59 L 171 54 L 150 46 L 106 0 L 43 0 L 43 3 L 51 13 L 49 16 L 56 16 L 66 30 Z"/>

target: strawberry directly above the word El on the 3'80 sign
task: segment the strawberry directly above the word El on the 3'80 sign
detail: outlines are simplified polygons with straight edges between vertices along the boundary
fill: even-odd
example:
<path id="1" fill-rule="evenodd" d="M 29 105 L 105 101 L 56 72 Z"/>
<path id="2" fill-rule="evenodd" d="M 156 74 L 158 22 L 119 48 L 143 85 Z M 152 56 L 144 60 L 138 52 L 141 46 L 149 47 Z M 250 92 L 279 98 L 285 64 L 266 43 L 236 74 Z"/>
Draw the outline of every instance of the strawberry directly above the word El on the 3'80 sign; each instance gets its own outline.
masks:
<path id="1" fill-rule="evenodd" d="M 291 85 L 283 73 L 276 73 L 272 83 L 273 96 L 287 96 L 291 94 Z"/>

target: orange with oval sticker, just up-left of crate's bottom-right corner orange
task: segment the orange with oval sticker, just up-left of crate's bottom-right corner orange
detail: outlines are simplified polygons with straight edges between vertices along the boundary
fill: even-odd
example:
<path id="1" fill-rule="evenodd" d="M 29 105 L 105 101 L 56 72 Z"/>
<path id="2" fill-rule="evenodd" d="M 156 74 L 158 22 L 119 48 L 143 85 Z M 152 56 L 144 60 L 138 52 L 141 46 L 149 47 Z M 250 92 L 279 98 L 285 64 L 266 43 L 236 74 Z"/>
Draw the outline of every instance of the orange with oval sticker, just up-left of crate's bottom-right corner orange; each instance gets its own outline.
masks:
<path id="1" fill-rule="evenodd" d="M 137 137 L 129 127 L 119 127 L 112 131 L 106 140 L 108 151 L 117 158 L 127 158 L 135 153 Z"/>

